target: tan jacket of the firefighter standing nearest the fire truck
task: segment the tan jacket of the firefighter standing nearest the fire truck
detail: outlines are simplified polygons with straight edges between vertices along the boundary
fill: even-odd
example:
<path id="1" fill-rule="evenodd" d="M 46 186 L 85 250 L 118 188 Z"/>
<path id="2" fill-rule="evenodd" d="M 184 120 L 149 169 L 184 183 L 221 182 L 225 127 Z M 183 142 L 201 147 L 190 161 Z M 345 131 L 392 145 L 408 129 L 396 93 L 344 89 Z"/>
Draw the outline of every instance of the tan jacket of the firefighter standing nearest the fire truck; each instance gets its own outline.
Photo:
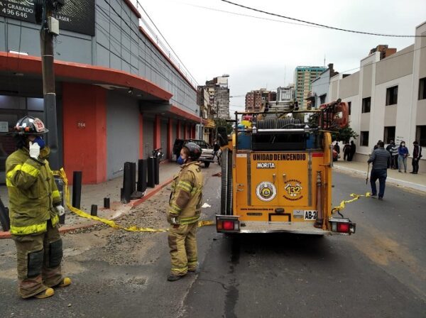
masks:
<path id="1" fill-rule="evenodd" d="M 204 177 L 199 163 L 182 165 L 173 178 L 168 214 L 179 224 L 191 224 L 200 219 Z"/>

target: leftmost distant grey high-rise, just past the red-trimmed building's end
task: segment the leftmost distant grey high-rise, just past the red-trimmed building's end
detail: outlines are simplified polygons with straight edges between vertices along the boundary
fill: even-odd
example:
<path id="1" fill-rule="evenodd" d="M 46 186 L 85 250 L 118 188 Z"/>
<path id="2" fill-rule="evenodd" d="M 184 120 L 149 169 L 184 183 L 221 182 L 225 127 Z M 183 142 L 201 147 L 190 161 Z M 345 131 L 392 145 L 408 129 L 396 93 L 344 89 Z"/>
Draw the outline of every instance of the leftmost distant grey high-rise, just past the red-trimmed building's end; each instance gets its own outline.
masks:
<path id="1" fill-rule="evenodd" d="M 210 105 L 212 112 L 218 118 L 229 119 L 229 75 L 222 77 L 214 77 L 214 79 L 206 81 L 205 88 L 210 95 Z"/>

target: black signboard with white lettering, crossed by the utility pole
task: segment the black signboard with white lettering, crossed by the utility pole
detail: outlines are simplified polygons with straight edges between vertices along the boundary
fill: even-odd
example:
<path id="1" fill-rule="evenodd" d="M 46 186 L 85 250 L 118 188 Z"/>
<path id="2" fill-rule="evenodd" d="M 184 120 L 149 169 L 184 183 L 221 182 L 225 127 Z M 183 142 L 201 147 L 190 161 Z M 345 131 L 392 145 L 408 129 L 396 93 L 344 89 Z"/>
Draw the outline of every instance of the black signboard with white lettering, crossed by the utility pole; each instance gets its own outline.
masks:
<path id="1" fill-rule="evenodd" d="M 61 30 L 94 35 L 94 0 L 67 0 L 53 16 Z M 0 16 L 35 23 L 33 0 L 0 0 Z"/>

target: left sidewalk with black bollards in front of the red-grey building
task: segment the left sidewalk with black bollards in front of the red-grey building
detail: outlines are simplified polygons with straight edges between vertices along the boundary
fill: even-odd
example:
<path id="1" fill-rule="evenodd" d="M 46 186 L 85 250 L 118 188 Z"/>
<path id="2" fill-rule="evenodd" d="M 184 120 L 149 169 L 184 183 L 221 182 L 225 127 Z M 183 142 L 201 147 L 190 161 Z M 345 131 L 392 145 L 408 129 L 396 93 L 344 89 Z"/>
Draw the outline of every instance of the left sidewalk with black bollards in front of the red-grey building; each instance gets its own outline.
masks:
<path id="1" fill-rule="evenodd" d="M 160 164 L 160 184 L 154 188 L 148 187 L 146 194 L 141 199 L 131 200 L 128 204 L 120 202 L 120 188 L 123 187 L 123 177 L 116 177 L 113 180 L 102 182 L 97 185 L 83 185 L 82 186 L 82 199 L 80 209 L 90 214 L 92 204 L 97 204 L 97 216 L 102 219 L 117 219 L 119 216 L 129 213 L 132 207 L 146 201 L 155 193 L 166 187 L 173 179 L 173 175 L 178 173 L 180 166 L 175 162 L 165 162 Z M 70 178 L 70 176 L 67 176 Z M 72 177 L 72 176 L 71 176 Z M 70 189 L 70 197 L 72 198 L 72 186 Z M 0 197 L 4 205 L 9 205 L 9 197 L 6 185 L 0 185 Z M 110 209 L 104 209 L 104 197 L 109 197 L 111 202 Z M 70 212 L 65 207 L 65 224 L 61 226 L 61 232 L 73 231 L 84 227 L 89 227 L 94 224 L 99 224 L 98 221 L 85 219 Z M 3 232 L 0 226 L 0 238 L 9 238 L 9 232 Z"/>

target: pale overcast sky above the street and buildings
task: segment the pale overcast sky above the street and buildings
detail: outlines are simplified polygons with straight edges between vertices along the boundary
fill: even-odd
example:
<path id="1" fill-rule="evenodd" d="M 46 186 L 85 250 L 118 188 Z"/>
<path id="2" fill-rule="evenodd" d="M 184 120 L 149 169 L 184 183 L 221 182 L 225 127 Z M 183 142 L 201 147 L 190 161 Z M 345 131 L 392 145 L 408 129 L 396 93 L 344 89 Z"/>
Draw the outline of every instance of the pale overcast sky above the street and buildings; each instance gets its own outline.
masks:
<path id="1" fill-rule="evenodd" d="M 372 33 L 414 35 L 415 26 L 426 21 L 425 0 L 231 1 L 283 16 Z M 388 44 L 399 51 L 414 43 L 414 38 L 300 26 L 220 0 L 139 0 L 139 3 L 198 84 L 229 74 L 231 96 L 293 83 L 297 65 L 322 66 L 324 57 L 325 65 L 334 63 L 337 72 L 353 73 L 359 70 L 353 70 L 359 67 L 359 61 L 376 45 Z M 244 97 L 231 98 L 230 109 L 243 111 Z"/>

